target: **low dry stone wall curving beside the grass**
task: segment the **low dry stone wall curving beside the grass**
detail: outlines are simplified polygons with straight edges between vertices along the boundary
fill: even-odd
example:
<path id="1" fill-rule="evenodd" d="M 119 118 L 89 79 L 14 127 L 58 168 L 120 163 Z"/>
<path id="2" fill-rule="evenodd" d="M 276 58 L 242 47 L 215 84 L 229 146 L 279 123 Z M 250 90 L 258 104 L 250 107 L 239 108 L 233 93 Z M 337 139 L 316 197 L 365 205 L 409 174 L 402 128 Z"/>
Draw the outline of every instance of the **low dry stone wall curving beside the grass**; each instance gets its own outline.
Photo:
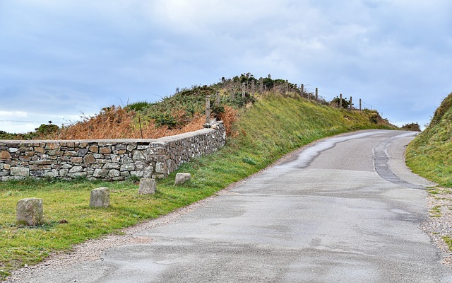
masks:
<path id="1" fill-rule="evenodd" d="M 225 145 L 222 122 L 161 139 L 0 140 L 0 180 L 163 178 L 182 163 Z"/>

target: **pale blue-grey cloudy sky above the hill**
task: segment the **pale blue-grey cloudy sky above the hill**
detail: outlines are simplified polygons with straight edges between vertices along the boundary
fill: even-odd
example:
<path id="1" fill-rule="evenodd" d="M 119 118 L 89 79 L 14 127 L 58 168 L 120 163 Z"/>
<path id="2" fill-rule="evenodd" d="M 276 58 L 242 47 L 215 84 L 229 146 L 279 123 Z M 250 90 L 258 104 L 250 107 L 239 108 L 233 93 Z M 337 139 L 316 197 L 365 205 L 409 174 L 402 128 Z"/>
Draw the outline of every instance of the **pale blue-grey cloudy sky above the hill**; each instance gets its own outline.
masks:
<path id="1" fill-rule="evenodd" d="M 0 130 L 250 72 L 396 125 L 452 92 L 450 0 L 0 0 Z"/>

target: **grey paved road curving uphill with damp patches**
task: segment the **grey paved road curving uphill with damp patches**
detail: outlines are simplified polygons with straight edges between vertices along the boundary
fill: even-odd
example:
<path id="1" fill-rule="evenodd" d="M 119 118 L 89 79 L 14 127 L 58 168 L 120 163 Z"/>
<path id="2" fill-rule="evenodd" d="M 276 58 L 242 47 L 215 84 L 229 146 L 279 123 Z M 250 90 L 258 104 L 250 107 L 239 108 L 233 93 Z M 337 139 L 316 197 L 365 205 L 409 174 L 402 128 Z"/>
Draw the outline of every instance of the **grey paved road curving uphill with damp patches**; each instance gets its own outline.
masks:
<path id="1" fill-rule="evenodd" d="M 420 230 L 412 132 L 324 139 L 169 224 L 31 282 L 452 282 Z"/>

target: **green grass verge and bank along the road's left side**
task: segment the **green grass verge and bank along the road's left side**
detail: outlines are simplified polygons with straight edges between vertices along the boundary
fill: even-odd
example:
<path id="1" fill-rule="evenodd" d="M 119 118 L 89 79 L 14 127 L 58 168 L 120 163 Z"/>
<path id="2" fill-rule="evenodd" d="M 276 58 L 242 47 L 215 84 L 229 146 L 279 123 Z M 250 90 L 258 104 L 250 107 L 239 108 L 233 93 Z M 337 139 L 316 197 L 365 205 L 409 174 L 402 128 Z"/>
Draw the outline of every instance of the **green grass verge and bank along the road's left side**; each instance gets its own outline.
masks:
<path id="1" fill-rule="evenodd" d="M 155 195 L 138 195 L 138 185 L 132 181 L 0 183 L 1 276 L 39 262 L 52 251 L 70 250 L 76 243 L 114 233 L 213 195 L 316 139 L 357 129 L 393 128 L 376 112 L 348 111 L 278 95 L 259 98 L 252 107 L 240 111 L 224 148 L 179 168 L 178 172 L 192 174 L 190 183 L 174 187 L 173 173 L 159 180 Z M 88 207 L 90 190 L 103 186 L 111 191 L 111 206 Z M 24 197 L 43 199 L 43 226 L 16 225 L 16 203 Z"/>

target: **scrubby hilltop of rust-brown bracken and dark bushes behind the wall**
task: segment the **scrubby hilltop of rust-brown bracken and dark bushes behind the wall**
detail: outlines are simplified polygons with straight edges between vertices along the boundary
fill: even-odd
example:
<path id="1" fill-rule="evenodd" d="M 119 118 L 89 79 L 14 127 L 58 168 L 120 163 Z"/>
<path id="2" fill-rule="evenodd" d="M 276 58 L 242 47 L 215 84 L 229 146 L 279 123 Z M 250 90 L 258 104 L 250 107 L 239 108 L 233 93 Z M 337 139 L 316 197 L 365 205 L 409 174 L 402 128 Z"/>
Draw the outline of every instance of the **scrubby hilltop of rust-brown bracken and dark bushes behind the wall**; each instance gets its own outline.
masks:
<path id="1" fill-rule="evenodd" d="M 234 76 L 210 86 L 193 86 L 177 90 L 172 96 L 155 103 L 141 101 L 129 105 L 111 105 L 102 108 L 97 115 L 59 128 L 57 125 L 41 125 L 35 132 L 8 134 L 0 131 L 0 139 L 138 139 L 159 138 L 201 129 L 206 121 L 206 98 L 210 98 L 212 118 L 225 122 L 228 135 L 239 112 L 253 107 L 256 100 L 267 96 L 315 100 L 316 105 L 339 108 L 339 98 L 326 101 L 315 99 L 314 93 L 302 90 L 296 84 L 283 79 L 259 78 L 252 74 Z M 350 101 L 343 99 L 343 108 Z M 350 110 L 350 108 L 348 108 Z M 375 110 L 362 112 L 371 124 L 388 124 Z"/>

